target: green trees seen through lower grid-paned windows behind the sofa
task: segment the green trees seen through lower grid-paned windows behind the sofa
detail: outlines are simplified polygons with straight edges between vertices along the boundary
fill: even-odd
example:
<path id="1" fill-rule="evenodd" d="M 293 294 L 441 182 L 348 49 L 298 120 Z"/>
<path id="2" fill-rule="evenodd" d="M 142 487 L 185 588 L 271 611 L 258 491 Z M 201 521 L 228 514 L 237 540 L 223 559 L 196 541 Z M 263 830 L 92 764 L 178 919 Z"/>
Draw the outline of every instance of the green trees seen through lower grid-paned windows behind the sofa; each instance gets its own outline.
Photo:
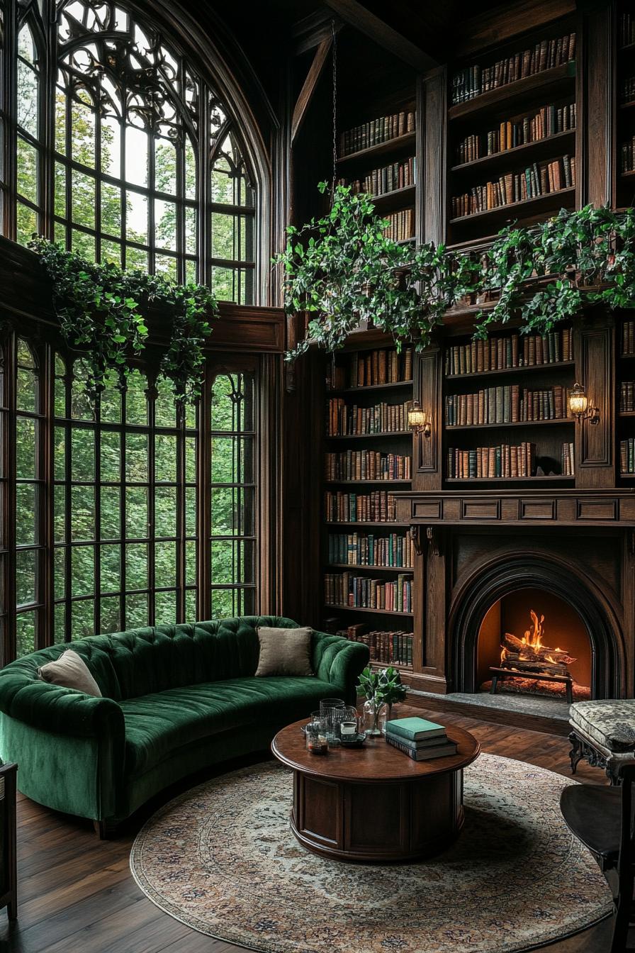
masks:
<path id="1" fill-rule="evenodd" d="M 95 403 L 81 359 L 6 342 L 4 661 L 53 641 L 258 611 L 258 375 L 241 363 L 208 367 L 203 412 L 141 370 Z"/>

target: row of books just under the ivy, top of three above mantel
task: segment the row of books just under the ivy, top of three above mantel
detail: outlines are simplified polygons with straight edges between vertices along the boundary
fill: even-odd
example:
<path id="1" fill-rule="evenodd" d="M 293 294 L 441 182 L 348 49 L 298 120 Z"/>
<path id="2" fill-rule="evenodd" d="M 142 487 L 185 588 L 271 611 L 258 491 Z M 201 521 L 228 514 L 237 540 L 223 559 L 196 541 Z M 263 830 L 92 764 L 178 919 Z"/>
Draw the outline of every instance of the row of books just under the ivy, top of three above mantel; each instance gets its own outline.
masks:
<path id="1" fill-rule="evenodd" d="M 627 322 L 626 322 L 627 323 Z M 633 323 L 633 322 L 631 322 Z M 521 347 L 522 341 L 522 347 Z M 508 335 L 456 344 L 446 350 L 446 376 L 505 371 L 573 360 L 571 329 L 541 335 Z"/>

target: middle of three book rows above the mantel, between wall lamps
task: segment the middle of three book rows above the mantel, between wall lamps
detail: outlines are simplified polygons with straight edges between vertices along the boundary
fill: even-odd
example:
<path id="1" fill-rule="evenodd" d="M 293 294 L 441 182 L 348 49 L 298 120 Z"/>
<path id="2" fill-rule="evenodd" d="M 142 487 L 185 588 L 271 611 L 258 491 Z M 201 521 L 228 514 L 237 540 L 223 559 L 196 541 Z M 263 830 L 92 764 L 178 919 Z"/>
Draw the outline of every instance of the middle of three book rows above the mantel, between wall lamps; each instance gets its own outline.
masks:
<path id="1" fill-rule="evenodd" d="M 529 391 L 513 384 L 487 387 L 476 394 L 446 397 L 446 427 L 472 424 L 516 423 L 534 420 L 563 420 L 568 416 L 566 387 Z"/>

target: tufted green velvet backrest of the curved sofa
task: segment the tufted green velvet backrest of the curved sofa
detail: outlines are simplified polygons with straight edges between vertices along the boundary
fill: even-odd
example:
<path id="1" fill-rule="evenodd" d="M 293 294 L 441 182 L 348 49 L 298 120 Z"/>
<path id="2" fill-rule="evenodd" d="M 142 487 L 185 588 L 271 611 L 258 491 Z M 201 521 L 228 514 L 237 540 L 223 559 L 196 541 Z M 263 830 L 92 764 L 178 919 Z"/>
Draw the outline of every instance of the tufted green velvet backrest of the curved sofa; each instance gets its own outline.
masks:
<path id="1" fill-rule="evenodd" d="M 290 618 L 241 616 L 181 625 L 130 629 L 109 636 L 55 645 L 11 663 L 37 667 L 71 648 L 86 661 L 102 694 L 115 701 L 179 688 L 200 681 L 253 675 L 259 656 L 261 625 L 296 628 Z"/>

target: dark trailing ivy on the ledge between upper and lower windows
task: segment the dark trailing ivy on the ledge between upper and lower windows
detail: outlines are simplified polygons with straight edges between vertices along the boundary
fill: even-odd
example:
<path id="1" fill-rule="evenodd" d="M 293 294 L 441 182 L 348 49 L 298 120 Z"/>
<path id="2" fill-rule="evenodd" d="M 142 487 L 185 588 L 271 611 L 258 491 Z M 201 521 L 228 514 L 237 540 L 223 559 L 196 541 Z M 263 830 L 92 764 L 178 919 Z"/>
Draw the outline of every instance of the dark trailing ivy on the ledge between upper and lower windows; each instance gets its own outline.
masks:
<path id="1" fill-rule="evenodd" d="M 97 264 L 37 235 L 29 247 L 50 277 L 61 334 L 69 348 L 82 353 L 91 399 L 103 391 L 112 372 L 119 385 L 125 385 L 130 358 L 146 347 L 149 329 L 143 315 L 151 304 L 159 306 L 171 323 L 161 374 L 171 382 L 177 401 L 192 402 L 200 395 L 203 348 L 211 334 L 208 318 L 218 316 L 218 304 L 208 288 L 178 285 L 159 274 L 123 271 L 111 262 Z"/>

